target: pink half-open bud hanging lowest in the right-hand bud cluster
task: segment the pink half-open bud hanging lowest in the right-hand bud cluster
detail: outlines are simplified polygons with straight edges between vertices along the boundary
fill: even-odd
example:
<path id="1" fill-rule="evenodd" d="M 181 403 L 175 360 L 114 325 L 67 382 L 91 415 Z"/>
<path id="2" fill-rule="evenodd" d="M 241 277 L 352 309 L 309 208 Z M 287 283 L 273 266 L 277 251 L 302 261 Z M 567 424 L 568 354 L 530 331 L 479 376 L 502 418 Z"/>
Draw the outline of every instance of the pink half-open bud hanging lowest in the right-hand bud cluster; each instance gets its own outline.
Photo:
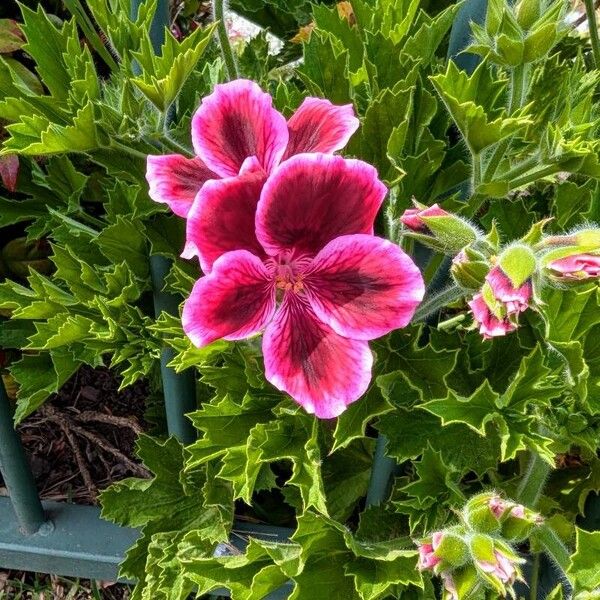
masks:
<path id="1" fill-rule="evenodd" d="M 531 283 L 515 288 L 500 267 L 494 267 L 485 280 L 483 290 L 468 304 L 479 332 L 489 339 L 517 329 L 517 316 L 529 307 Z"/>

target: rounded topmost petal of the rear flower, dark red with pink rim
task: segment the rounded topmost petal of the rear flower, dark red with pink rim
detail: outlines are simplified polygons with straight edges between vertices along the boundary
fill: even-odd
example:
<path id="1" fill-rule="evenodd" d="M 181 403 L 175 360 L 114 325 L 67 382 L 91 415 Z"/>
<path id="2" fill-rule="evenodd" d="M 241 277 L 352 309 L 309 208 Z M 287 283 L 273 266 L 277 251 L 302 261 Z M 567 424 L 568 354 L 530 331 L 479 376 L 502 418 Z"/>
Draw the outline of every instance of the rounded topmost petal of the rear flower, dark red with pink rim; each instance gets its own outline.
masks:
<path id="1" fill-rule="evenodd" d="M 249 156 L 269 173 L 288 143 L 285 118 L 256 83 L 237 79 L 215 86 L 192 118 L 196 154 L 222 177 L 232 177 Z"/>

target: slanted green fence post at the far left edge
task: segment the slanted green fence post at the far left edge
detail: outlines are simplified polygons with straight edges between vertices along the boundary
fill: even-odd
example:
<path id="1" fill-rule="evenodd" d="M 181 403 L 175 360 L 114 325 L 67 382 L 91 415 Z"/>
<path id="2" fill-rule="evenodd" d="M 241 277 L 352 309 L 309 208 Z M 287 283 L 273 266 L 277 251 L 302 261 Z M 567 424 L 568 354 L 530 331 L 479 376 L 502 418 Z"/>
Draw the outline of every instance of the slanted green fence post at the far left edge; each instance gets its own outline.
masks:
<path id="1" fill-rule="evenodd" d="M 13 410 L 0 377 L 0 471 L 23 533 L 40 530 L 46 516 L 33 474 L 13 424 Z"/>

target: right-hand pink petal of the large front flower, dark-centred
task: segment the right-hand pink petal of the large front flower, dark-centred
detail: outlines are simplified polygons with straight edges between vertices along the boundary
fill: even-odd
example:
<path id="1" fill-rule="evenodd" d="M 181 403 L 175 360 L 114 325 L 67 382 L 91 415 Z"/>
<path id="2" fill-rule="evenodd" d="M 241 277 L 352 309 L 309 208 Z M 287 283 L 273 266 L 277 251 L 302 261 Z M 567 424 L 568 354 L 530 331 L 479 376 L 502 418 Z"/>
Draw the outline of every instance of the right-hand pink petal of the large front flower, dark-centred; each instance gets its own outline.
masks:
<path id="1" fill-rule="evenodd" d="M 425 294 L 421 272 L 407 254 L 364 234 L 329 242 L 303 282 L 319 319 L 336 333 L 361 340 L 408 325 Z"/>

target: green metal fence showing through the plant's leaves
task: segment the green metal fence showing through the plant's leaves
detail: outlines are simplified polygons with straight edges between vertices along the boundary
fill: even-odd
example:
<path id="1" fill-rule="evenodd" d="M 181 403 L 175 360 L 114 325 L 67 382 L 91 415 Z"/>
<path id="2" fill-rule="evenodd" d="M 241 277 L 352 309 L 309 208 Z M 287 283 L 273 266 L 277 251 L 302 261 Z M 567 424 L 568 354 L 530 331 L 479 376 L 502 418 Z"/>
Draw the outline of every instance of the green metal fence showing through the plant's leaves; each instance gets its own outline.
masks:
<path id="1" fill-rule="evenodd" d="M 137 12 L 143 1 L 132 0 L 131 10 Z M 452 57 L 457 57 L 468 43 L 469 21 L 483 20 L 486 4 L 486 0 L 467 0 L 461 8 L 450 40 Z M 157 52 L 168 18 L 167 0 L 159 0 L 152 27 Z M 474 66 L 469 64 L 470 60 L 472 58 L 457 58 L 467 69 Z M 150 267 L 156 314 L 163 310 L 177 314 L 180 298 L 163 291 L 169 261 L 152 256 Z M 171 358 L 171 351 L 165 348 L 161 356 L 161 375 L 168 431 L 182 442 L 190 443 L 195 431 L 185 415 L 196 408 L 195 376 L 193 369 L 176 374 L 167 367 Z M 389 493 L 395 462 L 385 455 L 385 444 L 385 438 L 377 440 L 367 505 L 384 501 Z M 12 406 L 1 380 L 0 471 L 9 492 L 8 498 L 0 497 L 0 567 L 90 579 L 117 578 L 118 565 L 139 532 L 101 520 L 99 509 L 93 506 L 40 501 L 19 435 L 13 427 Z M 285 540 L 291 533 L 281 527 L 244 523 L 236 523 L 234 532 L 239 535 L 232 538 L 232 543 L 238 547 L 240 539 L 250 534 Z M 288 593 L 284 587 L 269 598 L 284 598 Z"/>

